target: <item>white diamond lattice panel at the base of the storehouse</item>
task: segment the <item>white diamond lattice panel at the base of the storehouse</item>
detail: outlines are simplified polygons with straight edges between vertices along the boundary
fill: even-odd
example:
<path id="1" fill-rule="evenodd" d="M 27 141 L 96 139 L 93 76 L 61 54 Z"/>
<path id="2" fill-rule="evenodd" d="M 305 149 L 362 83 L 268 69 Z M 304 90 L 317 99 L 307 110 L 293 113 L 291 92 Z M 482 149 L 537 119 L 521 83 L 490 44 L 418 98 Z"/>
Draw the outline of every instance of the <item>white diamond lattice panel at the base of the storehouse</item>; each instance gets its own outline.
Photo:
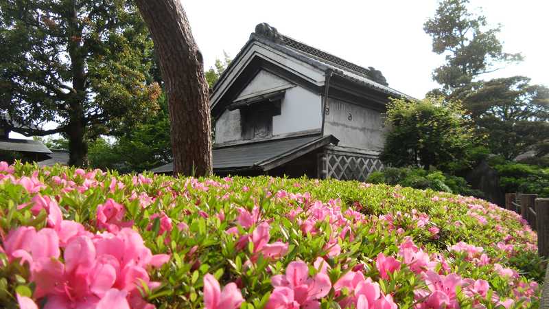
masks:
<path id="1" fill-rule="evenodd" d="M 364 181 L 371 172 L 382 170 L 377 158 L 326 154 L 326 178 Z"/>

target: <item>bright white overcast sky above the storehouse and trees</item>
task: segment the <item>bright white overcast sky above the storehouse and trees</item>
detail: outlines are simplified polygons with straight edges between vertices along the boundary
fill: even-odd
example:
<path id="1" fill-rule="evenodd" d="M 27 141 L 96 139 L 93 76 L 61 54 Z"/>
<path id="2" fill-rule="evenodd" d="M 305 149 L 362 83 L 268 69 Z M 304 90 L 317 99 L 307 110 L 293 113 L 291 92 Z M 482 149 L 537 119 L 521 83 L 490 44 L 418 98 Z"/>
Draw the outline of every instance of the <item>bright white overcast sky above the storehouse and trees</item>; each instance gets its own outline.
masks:
<path id="1" fill-rule="evenodd" d="M 224 52 L 236 56 L 255 25 L 266 22 L 344 60 L 375 67 L 390 87 L 414 98 L 438 87 L 431 73 L 444 56 L 432 52 L 431 38 L 423 32 L 423 23 L 434 16 L 436 0 L 181 1 L 206 69 Z M 469 8 L 491 25 L 502 25 L 504 51 L 525 58 L 484 79 L 522 75 L 549 86 L 549 0 L 471 0 Z M 10 137 L 29 138 L 17 133 Z"/>

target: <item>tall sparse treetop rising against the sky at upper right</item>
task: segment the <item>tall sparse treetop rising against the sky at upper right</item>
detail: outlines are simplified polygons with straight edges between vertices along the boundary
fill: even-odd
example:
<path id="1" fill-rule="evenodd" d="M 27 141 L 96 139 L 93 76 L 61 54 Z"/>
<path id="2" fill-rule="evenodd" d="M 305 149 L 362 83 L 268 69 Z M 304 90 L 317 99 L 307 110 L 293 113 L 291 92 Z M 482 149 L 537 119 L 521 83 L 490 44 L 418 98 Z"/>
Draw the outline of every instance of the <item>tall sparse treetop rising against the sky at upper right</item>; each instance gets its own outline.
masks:
<path id="1" fill-rule="evenodd" d="M 469 0 L 443 0 L 423 30 L 432 39 L 432 50 L 446 56 L 446 63 L 433 72 L 444 91 L 470 84 L 476 76 L 493 71 L 500 62 L 522 60 L 520 54 L 503 52 L 497 35 L 500 26 L 488 27 L 485 16 L 467 9 Z"/>

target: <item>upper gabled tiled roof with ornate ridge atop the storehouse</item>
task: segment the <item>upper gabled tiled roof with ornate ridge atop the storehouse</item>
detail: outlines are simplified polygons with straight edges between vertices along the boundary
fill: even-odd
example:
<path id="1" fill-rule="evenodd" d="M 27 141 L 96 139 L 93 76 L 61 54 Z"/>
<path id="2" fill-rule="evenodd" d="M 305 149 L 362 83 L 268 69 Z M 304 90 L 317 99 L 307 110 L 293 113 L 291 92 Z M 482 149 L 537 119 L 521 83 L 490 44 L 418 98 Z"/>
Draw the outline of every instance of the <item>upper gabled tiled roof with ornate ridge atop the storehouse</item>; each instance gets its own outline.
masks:
<path id="1" fill-rule="evenodd" d="M 290 36 L 280 34 L 276 28 L 270 27 L 270 25 L 266 23 L 261 23 L 255 27 L 255 32 L 250 35 L 250 39 L 246 45 L 242 47 L 229 67 L 222 73 L 218 82 L 213 85 L 213 93 L 211 95 L 211 99 L 213 99 L 211 100 L 212 108 L 218 103 L 219 95 L 223 92 L 220 88 L 225 87 L 224 80 L 231 75 L 233 69 L 242 70 L 242 68 L 236 67 L 240 66 L 240 62 L 243 60 L 242 58 L 244 55 L 250 54 L 251 56 L 257 56 L 257 52 L 250 52 L 250 50 L 253 50 L 253 45 L 258 44 L 282 53 L 286 58 L 289 56 L 299 60 L 322 72 L 324 75 L 327 75 L 327 73 L 330 72 L 343 80 L 358 84 L 360 87 L 366 87 L 377 93 L 393 96 L 395 98 L 413 99 L 410 95 L 406 95 L 405 93 L 388 87 L 388 83 L 382 73 L 373 67 L 365 68 L 360 65 L 355 65 L 352 62 L 297 41 L 294 38 L 290 38 Z M 320 86 L 323 84 L 324 79 L 320 81 Z"/>

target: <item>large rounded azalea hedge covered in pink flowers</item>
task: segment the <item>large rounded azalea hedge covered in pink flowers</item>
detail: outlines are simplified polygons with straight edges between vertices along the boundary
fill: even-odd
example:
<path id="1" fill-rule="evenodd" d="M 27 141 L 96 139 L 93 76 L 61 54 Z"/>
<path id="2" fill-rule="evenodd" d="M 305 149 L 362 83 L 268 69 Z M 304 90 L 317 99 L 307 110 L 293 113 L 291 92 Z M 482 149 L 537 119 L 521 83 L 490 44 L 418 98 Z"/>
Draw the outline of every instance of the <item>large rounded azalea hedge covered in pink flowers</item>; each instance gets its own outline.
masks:
<path id="1" fill-rule="evenodd" d="M 475 198 L 0 163 L 0 205 L 7 308 L 539 304 L 536 234 Z"/>

